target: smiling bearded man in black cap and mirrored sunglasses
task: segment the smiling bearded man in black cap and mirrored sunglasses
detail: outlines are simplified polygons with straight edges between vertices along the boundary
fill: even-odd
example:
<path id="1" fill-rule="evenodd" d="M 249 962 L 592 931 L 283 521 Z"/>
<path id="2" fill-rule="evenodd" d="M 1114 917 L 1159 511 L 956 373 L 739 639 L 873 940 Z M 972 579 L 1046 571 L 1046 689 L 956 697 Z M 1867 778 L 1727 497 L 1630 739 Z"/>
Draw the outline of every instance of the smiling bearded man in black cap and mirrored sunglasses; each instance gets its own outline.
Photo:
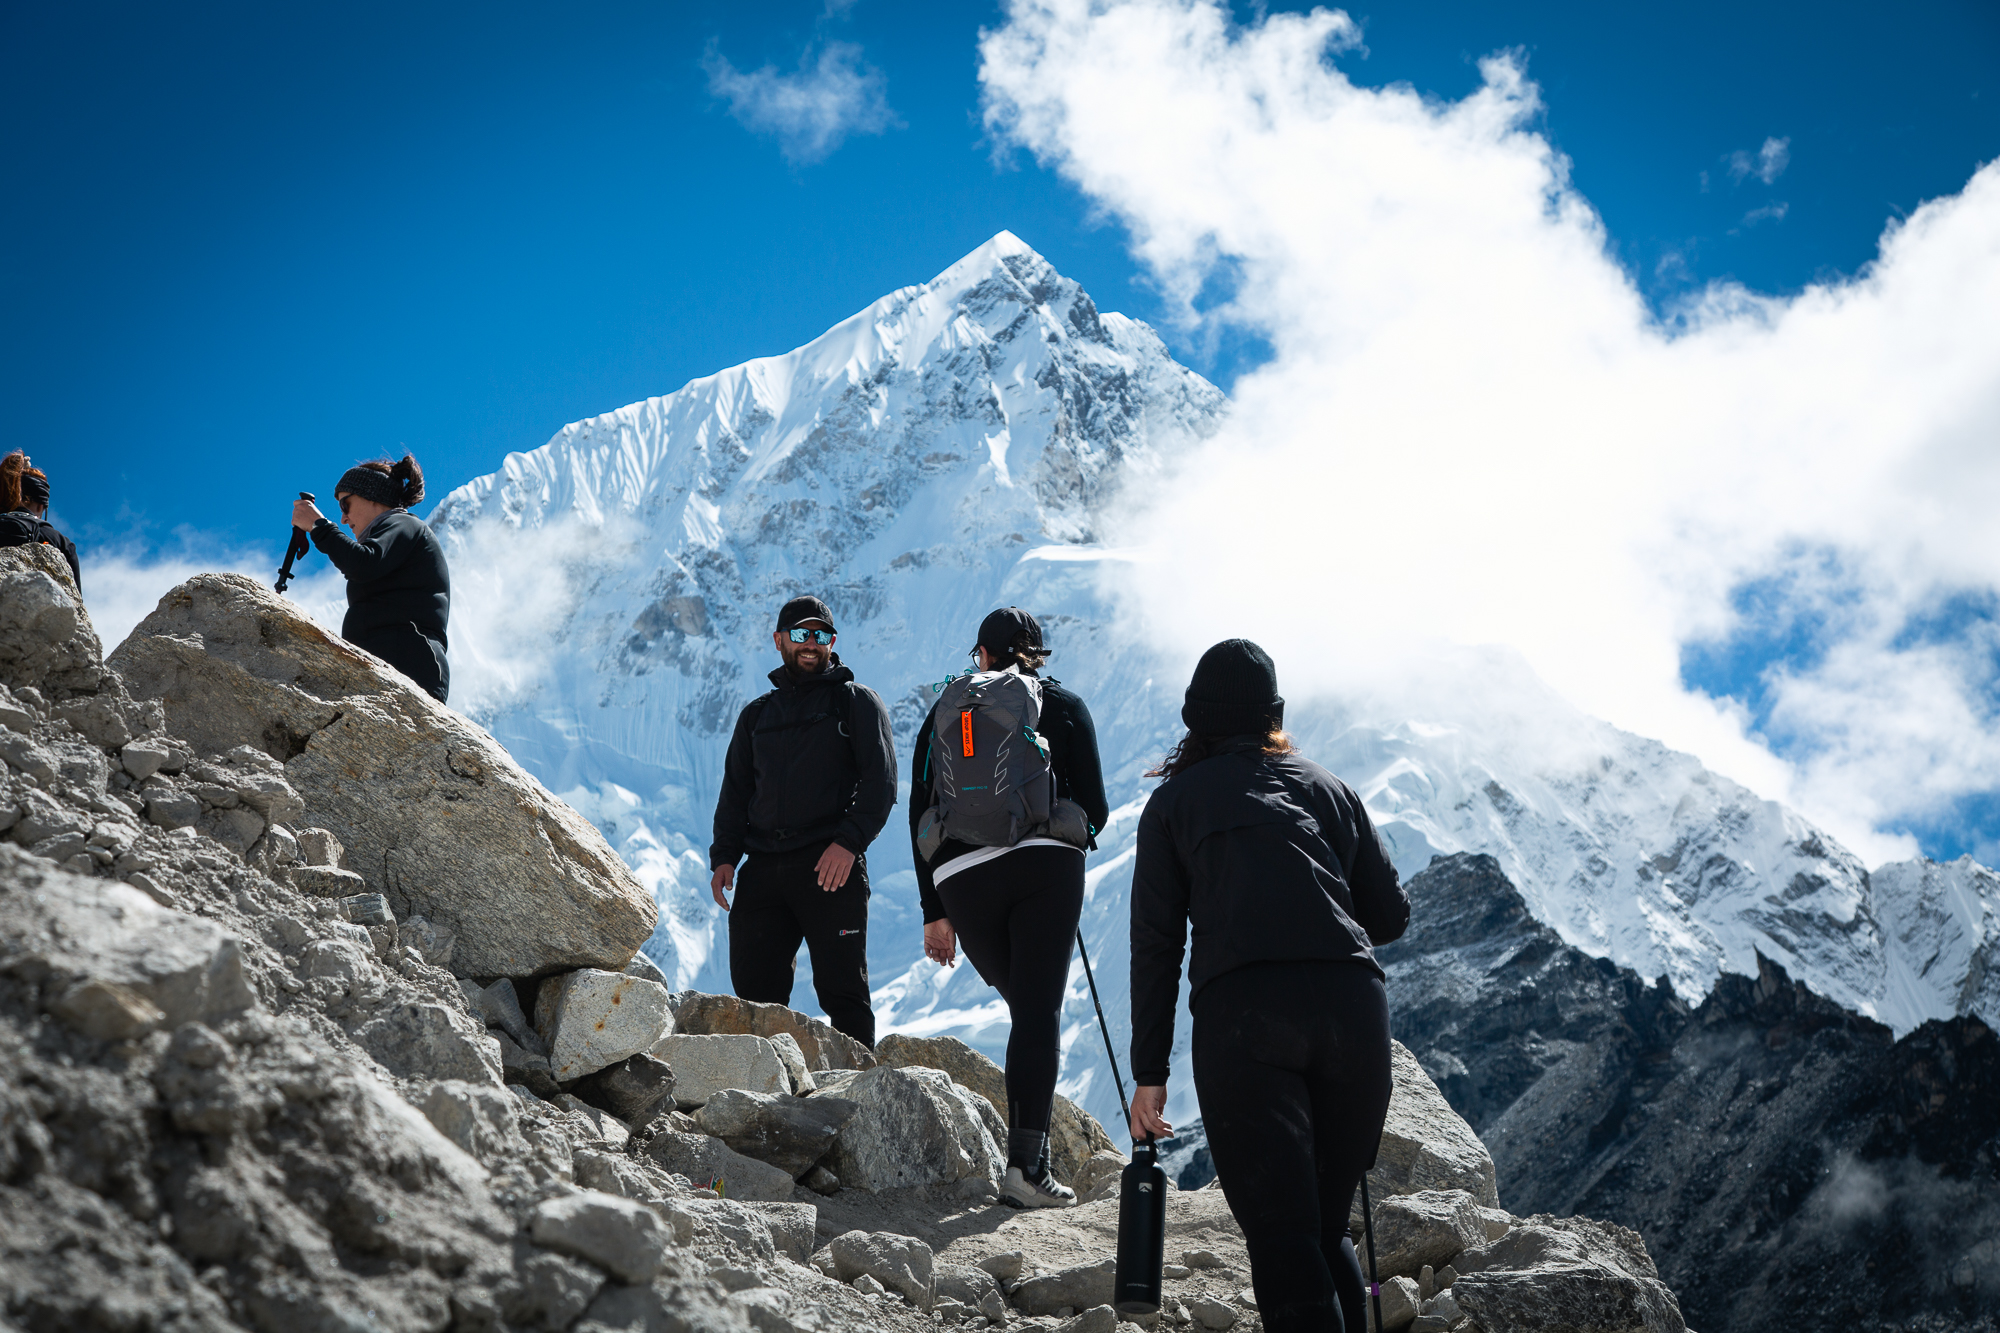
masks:
<path id="1" fill-rule="evenodd" d="M 820 598 L 788 600 L 772 642 L 784 664 L 736 719 L 708 847 L 710 891 L 730 913 L 730 983 L 790 1005 L 804 943 L 828 1021 L 874 1047 L 866 853 L 896 807 L 888 709 L 840 664 Z"/>

